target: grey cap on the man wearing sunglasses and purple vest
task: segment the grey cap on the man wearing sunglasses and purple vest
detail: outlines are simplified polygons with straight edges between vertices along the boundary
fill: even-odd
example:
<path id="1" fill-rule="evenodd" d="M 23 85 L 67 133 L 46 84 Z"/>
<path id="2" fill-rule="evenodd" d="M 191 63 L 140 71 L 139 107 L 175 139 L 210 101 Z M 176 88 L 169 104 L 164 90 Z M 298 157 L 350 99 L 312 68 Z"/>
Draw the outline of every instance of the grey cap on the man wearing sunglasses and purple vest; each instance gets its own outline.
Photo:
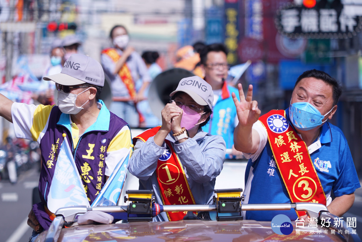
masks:
<path id="1" fill-rule="evenodd" d="M 87 55 L 72 54 L 59 74 L 45 76 L 44 80 L 72 86 L 89 83 L 104 86 L 104 71 L 99 62 Z"/>

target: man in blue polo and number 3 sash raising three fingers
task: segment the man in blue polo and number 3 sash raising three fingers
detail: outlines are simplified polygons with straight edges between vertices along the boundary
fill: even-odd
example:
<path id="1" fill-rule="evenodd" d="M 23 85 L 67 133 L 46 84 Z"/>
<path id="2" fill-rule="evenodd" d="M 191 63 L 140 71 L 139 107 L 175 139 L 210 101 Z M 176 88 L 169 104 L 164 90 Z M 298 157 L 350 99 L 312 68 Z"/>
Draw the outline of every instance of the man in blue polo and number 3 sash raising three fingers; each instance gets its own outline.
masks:
<path id="1" fill-rule="evenodd" d="M 249 158 L 244 203 L 314 202 L 327 205 L 336 216 L 347 212 L 360 184 L 346 138 L 327 122 L 342 93 L 337 80 L 323 71 L 306 71 L 296 81 L 290 107 L 261 117 L 252 85 L 246 98 L 241 84 L 238 88 L 240 102 L 232 94 L 239 119 L 235 148 Z M 305 216 L 294 210 L 244 215 L 271 221 L 277 214 L 291 220 Z"/>

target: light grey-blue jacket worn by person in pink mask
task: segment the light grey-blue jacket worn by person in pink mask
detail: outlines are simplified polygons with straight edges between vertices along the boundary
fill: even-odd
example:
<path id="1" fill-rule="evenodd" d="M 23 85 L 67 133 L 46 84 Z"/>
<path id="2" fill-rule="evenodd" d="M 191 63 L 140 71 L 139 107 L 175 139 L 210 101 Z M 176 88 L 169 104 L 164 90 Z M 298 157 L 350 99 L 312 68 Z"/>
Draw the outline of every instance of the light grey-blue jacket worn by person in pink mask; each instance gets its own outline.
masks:
<path id="1" fill-rule="evenodd" d="M 220 135 L 211 135 L 199 129 L 193 138 L 178 143 L 172 132 L 166 137 L 177 153 L 184 168 L 186 178 L 196 204 L 212 204 L 216 176 L 223 168 L 226 145 Z M 155 192 L 156 203 L 163 204 L 156 177 L 157 160 L 166 148 L 160 147 L 150 137 L 146 143 L 138 139 L 130 158 L 128 170 L 139 178 L 139 189 Z M 153 218 L 153 221 L 168 221 L 165 212 Z"/>

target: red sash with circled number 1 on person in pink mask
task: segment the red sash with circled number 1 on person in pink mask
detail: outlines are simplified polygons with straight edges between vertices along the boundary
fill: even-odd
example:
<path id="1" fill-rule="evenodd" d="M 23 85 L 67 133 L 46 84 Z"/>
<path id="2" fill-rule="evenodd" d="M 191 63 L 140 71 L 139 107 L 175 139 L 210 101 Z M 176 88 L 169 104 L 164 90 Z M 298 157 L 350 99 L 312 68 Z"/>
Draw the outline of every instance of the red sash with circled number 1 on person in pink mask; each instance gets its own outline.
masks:
<path id="1" fill-rule="evenodd" d="M 137 139 L 146 142 L 160 128 L 161 126 L 157 126 L 156 128 L 146 130 L 137 137 L 134 137 L 133 143 L 135 144 Z M 195 204 L 194 196 L 191 193 L 180 159 L 178 159 L 176 152 L 173 150 L 171 142 L 165 140 L 165 143 L 165 152 L 159 157 L 156 168 L 162 202 L 164 205 Z M 169 221 L 177 221 L 182 220 L 187 212 L 166 213 Z"/>

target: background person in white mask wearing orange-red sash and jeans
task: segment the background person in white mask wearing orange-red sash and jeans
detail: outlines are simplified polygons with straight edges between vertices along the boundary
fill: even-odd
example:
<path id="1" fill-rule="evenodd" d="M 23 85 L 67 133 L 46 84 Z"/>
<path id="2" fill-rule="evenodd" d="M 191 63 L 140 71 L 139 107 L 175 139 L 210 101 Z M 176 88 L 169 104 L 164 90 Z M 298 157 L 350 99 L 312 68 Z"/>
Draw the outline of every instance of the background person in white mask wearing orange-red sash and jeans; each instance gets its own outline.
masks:
<path id="1" fill-rule="evenodd" d="M 142 57 L 128 45 L 129 35 L 124 26 L 114 26 L 109 37 L 114 48 L 102 51 L 101 64 L 111 81 L 113 100 L 110 111 L 123 118 L 131 127 L 138 127 L 144 119 L 136 104 L 145 99 L 144 91 L 151 77 Z M 142 85 L 137 92 L 135 82 L 139 79 Z"/>

